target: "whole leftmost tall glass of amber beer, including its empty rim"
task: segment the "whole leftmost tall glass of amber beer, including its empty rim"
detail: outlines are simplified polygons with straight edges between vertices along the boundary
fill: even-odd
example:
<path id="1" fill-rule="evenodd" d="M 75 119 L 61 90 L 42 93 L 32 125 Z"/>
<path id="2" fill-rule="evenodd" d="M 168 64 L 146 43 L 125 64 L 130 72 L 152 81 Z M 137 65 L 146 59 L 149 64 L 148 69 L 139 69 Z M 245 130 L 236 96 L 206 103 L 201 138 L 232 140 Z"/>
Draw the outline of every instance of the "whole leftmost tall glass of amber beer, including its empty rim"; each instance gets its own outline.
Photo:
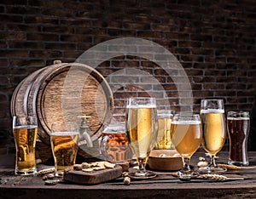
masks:
<path id="1" fill-rule="evenodd" d="M 35 148 L 38 136 L 37 117 L 13 118 L 16 160 L 15 174 L 31 175 L 37 172 Z"/>

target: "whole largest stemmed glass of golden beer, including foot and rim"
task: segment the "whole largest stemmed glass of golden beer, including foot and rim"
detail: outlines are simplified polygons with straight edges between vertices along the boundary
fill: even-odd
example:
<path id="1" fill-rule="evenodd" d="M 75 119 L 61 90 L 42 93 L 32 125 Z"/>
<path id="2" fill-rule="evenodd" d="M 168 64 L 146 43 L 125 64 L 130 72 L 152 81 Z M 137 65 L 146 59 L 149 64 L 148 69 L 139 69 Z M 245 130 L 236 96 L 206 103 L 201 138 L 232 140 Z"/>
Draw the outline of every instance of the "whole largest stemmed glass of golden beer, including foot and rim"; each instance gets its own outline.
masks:
<path id="1" fill-rule="evenodd" d="M 129 173 L 134 179 L 149 179 L 155 173 L 146 171 L 150 151 L 158 133 L 156 101 L 154 98 L 130 98 L 127 101 L 125 113 L 125 132 L 131 151 L 138 162 L 136 173 Z"/>

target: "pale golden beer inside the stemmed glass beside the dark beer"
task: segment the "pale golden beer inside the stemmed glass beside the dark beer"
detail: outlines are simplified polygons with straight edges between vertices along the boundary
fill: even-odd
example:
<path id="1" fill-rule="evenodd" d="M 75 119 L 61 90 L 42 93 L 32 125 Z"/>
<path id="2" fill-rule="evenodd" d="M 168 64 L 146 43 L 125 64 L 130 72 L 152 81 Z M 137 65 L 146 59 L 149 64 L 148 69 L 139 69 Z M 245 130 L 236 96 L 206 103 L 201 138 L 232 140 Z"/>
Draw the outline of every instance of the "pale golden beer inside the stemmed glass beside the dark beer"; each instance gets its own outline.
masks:
<path id="1" fill-rule="evenodd" d="M 226 138 L 224 110 L 201 110 L 201 120 L 202 145 L 205 151 L 215 156 L 222 149 Z"/>

